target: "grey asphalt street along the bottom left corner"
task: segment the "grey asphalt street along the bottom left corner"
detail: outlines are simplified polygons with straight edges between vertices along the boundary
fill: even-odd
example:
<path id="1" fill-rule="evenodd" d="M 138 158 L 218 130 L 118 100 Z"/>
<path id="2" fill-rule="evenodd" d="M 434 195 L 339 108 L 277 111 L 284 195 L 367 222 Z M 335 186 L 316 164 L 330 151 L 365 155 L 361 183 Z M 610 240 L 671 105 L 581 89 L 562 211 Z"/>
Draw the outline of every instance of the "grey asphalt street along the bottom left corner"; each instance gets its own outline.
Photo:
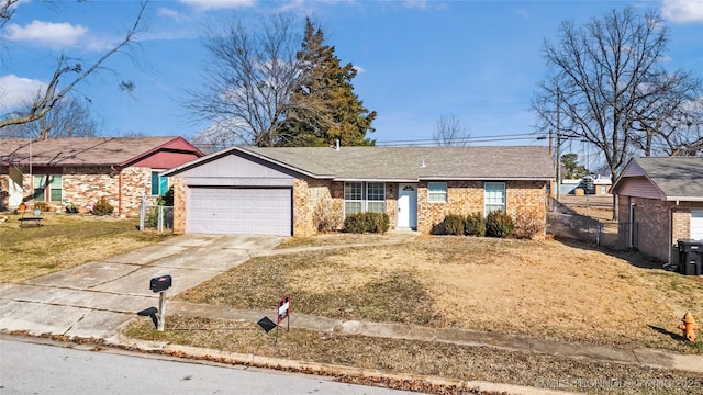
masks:
<path id="1" fill-rule="evenodd" d="M 0 339 L 0 394 L 414 393 L 336 383 L 303 374 L 164 360 L 121 350 L 78 350 L 5 337 Z"/>

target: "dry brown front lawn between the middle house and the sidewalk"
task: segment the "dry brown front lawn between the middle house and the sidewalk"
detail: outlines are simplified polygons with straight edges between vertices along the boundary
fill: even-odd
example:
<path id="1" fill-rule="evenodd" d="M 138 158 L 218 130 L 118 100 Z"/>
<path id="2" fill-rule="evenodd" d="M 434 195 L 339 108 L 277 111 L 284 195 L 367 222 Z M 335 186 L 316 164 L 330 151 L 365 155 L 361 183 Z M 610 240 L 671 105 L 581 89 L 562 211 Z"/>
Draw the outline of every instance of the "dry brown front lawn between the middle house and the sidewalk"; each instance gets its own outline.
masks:
<path id="1" fill-rule="evenodd" d="M 703 317 L 701 282 L 652 269 L 635 253 L 615 257 L 558 241 L 423 236 L 261 257 L 178 298 L 270 308 L 286 293 L 297 312 L 331 318 L 702 349 L 677 329 L 685 312 Z"/>

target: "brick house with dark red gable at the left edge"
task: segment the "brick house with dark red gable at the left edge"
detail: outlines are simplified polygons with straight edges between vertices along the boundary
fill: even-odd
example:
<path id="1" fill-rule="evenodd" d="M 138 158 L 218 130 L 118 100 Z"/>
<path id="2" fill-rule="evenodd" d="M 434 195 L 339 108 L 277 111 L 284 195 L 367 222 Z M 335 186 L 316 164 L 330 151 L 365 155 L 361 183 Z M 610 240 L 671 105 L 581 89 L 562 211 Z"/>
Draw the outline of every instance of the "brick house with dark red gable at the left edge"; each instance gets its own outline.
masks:
<path id="1" fill-rule="evenodd" d="M 181 137 L 0 139 L 0 211 L 45 202 L 79 212 L 104 196 L 114 214 L 137 216 L 143 195 L 168 189 L 159 172 L 202 157 Z"/>

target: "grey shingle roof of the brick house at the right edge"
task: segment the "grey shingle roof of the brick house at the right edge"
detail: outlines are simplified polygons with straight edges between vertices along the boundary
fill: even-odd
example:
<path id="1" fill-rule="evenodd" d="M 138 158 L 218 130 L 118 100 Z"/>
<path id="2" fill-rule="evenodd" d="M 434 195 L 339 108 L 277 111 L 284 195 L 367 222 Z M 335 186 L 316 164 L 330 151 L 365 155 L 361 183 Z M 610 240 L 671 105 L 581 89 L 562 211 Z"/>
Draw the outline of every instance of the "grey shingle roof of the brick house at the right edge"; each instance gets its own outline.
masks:
<path id="1" fill-rule="evenodd" d="M 647 157 L 635 161 L 668 199 L 703 198 L 702 157 Z"/>

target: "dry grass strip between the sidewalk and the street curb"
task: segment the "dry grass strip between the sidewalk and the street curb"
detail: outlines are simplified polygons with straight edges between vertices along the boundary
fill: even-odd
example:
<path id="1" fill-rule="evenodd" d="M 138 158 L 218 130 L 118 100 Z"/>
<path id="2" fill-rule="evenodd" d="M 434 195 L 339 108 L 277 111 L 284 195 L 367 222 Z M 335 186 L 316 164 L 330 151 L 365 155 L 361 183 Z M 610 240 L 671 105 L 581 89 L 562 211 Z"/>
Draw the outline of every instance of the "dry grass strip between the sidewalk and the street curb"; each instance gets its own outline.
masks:
<path id="1" fill-rule="evenodd" d="M 487 381 L 589 394 L 691 394 L 700 373 L 428 341 L 369 338 L 292 328 L 266 334 L 256 324 L 171 316 L 166 330 L 148 319 L 125 328 L 132 338 L 317 363 Z M 465 394 L 457 392 L 443 394 Z M 446 388 L 445 388 L 446 391 Z"/>

